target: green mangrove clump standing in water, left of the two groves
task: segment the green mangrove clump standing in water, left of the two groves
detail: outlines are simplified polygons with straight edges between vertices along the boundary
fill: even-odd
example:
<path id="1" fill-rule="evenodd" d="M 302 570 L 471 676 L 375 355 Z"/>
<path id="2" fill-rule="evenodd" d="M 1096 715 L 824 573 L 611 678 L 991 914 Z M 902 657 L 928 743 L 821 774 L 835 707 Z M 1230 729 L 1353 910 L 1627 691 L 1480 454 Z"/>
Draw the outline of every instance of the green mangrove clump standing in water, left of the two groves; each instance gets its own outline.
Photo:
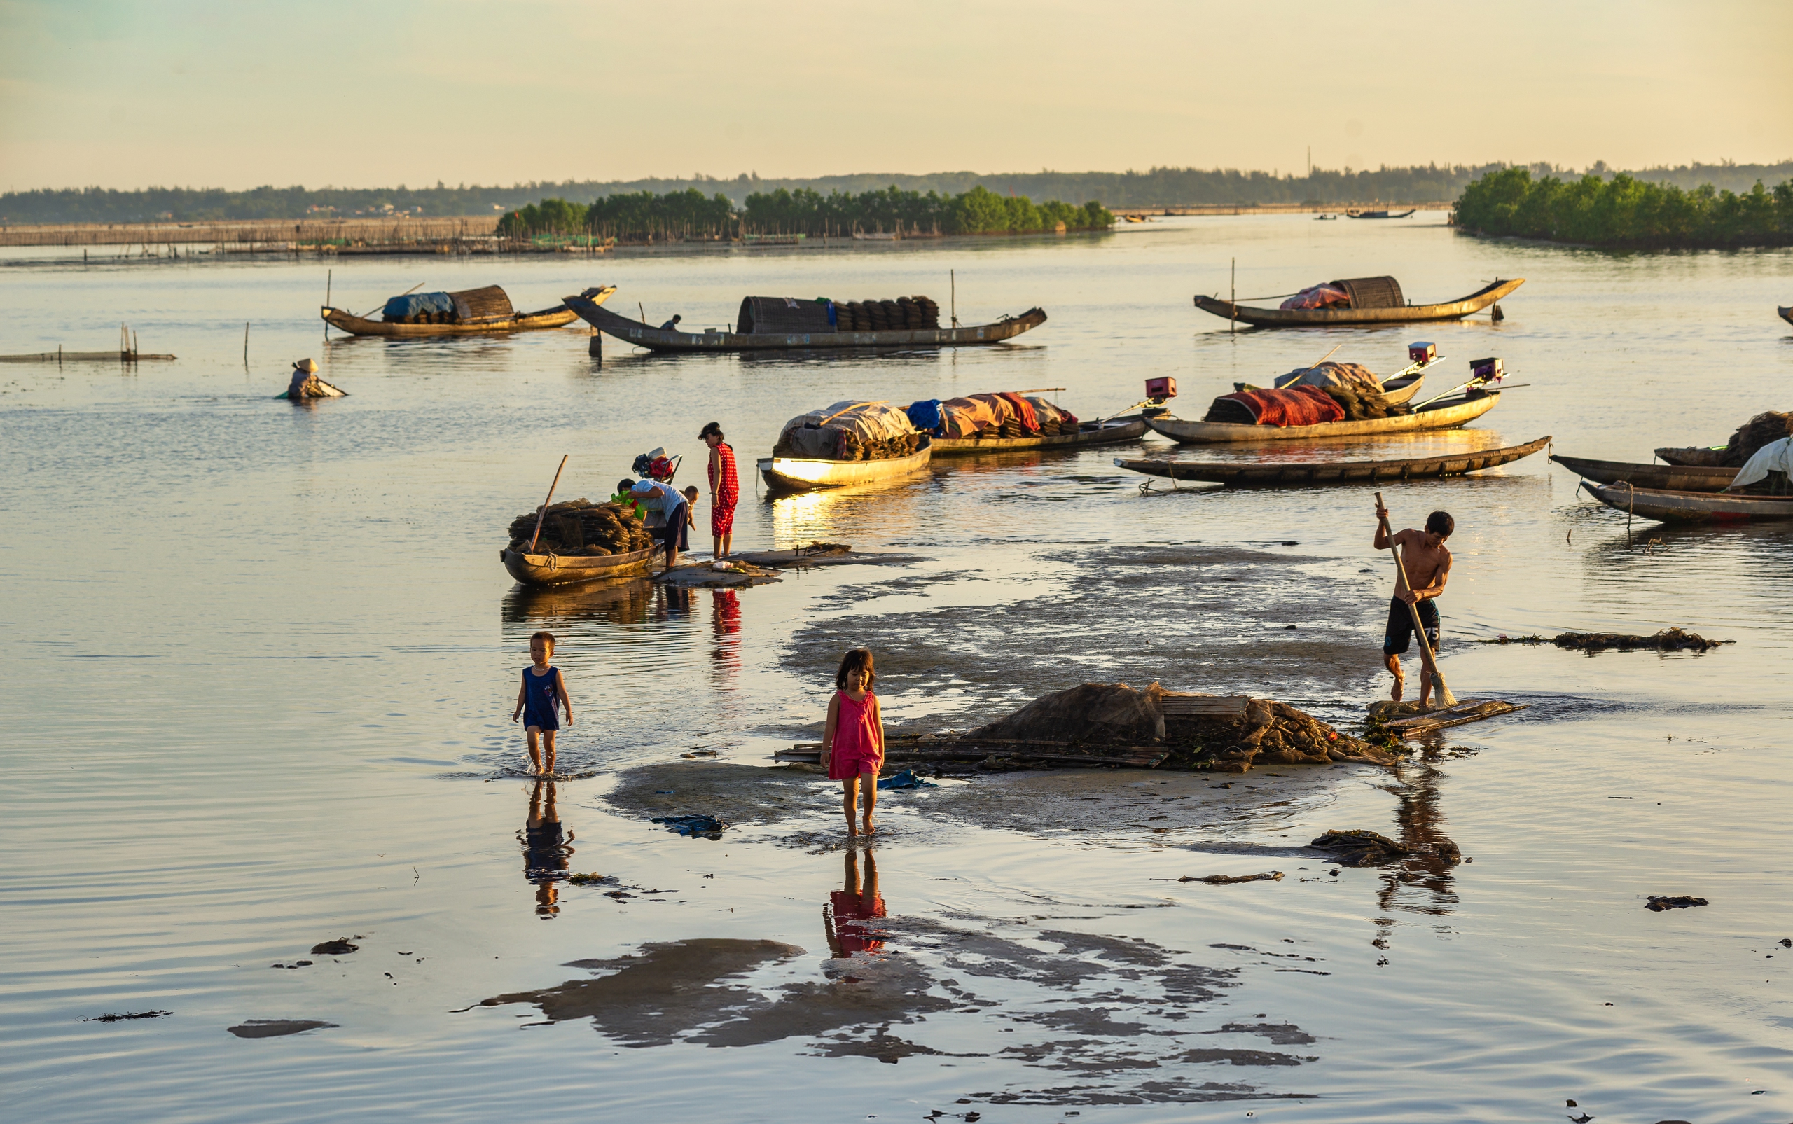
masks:
<path id="1" fill-rule="evenodd" d="M 753 192 L 735 204 L 721 192 L 705 197 L 683 192 L 631 192 L 604 195 L 590 206 L 567 199 L 543 199 L 507 212 L 498 220 L 506 237 L 592 235 L 622 242 L 651 238 L 715 238 L 742 235 L 843 237 L 853 231 L 904 231 L 941 235 L 1047 233 L 1063 224 L 1072 229 L 1108 229 L 1113 215 L 1101 203 L 1072 206 L 1026 195 L 997 195 L 972 186 L 957 195 L 905 192 L 898 186 L 861 192 L 812 192 L 776 188 Z"/>

